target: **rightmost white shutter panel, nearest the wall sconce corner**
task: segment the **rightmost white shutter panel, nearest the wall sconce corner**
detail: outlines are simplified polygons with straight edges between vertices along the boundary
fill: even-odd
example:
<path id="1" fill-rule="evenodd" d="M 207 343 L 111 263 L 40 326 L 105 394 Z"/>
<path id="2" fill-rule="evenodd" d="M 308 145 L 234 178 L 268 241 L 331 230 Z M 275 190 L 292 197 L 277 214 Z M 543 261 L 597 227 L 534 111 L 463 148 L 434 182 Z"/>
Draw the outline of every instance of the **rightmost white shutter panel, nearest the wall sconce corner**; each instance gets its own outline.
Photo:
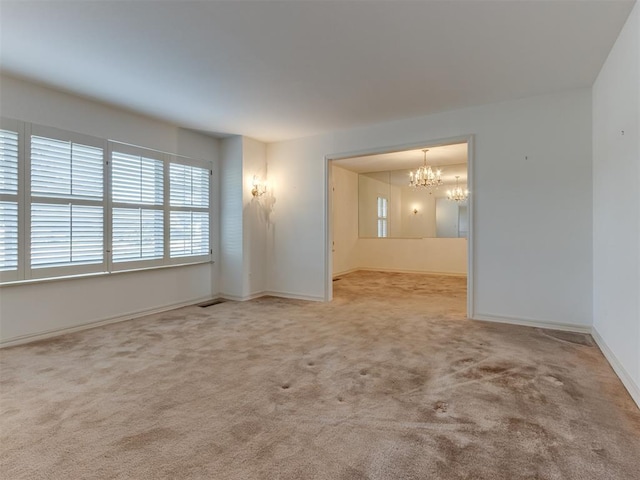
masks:
<path id="1" fill-rule="evenodd" d="M 169 254 L 171 258 L 208 256 L 210 170 L 171 163 L 169 177 Z"/>

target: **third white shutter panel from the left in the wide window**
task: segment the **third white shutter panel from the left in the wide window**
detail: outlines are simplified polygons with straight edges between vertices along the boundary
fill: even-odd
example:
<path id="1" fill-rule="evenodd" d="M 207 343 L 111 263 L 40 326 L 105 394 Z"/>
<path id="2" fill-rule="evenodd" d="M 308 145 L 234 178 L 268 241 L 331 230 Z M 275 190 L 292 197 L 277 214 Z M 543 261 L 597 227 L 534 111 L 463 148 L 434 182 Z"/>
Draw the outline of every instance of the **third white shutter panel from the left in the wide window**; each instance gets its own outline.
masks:
<path id="1" fill-rule="evenodd" d="M 111 153 L 111 259 L 117 269 L 161 265 L 165 256 L 164 162 L 151 158 L 160 156 L 158 152 L 126 150 Z"/>

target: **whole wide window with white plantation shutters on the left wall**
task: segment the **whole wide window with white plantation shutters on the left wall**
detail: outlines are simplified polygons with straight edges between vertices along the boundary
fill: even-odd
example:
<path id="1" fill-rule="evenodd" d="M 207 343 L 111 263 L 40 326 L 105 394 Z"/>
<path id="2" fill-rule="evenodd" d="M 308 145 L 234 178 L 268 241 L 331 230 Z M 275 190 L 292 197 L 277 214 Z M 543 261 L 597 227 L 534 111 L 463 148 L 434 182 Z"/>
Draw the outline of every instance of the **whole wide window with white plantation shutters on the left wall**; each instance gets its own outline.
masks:
<path id="1" fill-rule="evenodd" d="M 208 262 L 208 162 L 2 119 L 0 281 Z"/>

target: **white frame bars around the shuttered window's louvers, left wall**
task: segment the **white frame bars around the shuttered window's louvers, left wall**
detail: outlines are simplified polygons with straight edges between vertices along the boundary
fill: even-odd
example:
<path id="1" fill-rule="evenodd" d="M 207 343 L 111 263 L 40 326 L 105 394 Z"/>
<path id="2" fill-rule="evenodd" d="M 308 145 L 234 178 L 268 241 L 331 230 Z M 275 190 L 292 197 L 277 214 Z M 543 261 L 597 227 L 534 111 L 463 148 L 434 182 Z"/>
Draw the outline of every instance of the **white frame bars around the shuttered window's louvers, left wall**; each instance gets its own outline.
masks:
<path id="1" fill-rule="evenodd" d="M 86 277 L 96 275 L 111 275 L 121 272 L 143 271 L 156 268 L 169 268 L 184 265 L 210 263 L 213 261 L 214 244 L 214 218 L 212 207 L 214 205 L 214 185 L 212 181 L 213 161 L 200 160 L 177 154 L 170 154 L 152 148 L 141 147 L 129 143 L 84 135 L 76 132 L 62 130 L 55 127 L 36 125 L 6 117 L 0 117 L 0 127 L 14 131 L 18 134 L 18 191 L 17 195 L 0 194 L 0 200 L 16 201 L 18 205 L 18 268 L 16 270 L 0 272 L 0 286 L 9 286 L 21 283 L 33 283 L 42 281 L 63 280 L 74 277 Z M 55 195 L 46 196 L 31 195 L 31 137 L 32 135 L 51 138 L 53 140 L 70 141 L 81 145 L 98 147 L 102 149 L 102 199 L 100 201 L 87 199 L 73 199 L 72 196 L 64 197 Z M 113 151 L 145 158 L 154 158 L 162 162 L 163 171 L 163 204 L 138 205 L 141 208 L 162 211 L 163 218 L 163 255 L 162 258 L 152 260 L 134 260 L 126 262 L 113 262 L 113 209 L 119 206 L 129 206 L 122 202 L 112 201 L 112 153 Z M 170 201 L 170 164 L 178 163 L 209 171 L 208 181 L 208 206 L 207 207 L 172 207 Z M 72 204 L 91 205 L 99 204 L 102 209 L 102 235 L 103 255 L 102 262 L 91 264 L 79 264 L 69 266 L 53 266 L 32 268 L 31 265 L 31 210 L 32 204 Z M 171 210 L 201 211 L 208 217 L 208 246 L 206 255 L 170 256 L 170 215 Z"/>

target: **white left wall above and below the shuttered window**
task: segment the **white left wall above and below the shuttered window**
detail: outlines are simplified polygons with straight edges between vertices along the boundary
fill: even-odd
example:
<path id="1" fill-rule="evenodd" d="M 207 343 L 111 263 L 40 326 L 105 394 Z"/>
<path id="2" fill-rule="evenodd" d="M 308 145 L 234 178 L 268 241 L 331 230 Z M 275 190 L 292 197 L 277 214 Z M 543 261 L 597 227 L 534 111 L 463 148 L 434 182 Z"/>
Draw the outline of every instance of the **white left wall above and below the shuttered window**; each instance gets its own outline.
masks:
<path id="1" fill-rule="evenodd" d="M 0 115 L 212 160 L 217 169 L 214 138 L 8 76 L 0 77 Z M 0 339 L 210 298 L 218 290 L 216 271 L 203 264 L 0 287 Z"/>

